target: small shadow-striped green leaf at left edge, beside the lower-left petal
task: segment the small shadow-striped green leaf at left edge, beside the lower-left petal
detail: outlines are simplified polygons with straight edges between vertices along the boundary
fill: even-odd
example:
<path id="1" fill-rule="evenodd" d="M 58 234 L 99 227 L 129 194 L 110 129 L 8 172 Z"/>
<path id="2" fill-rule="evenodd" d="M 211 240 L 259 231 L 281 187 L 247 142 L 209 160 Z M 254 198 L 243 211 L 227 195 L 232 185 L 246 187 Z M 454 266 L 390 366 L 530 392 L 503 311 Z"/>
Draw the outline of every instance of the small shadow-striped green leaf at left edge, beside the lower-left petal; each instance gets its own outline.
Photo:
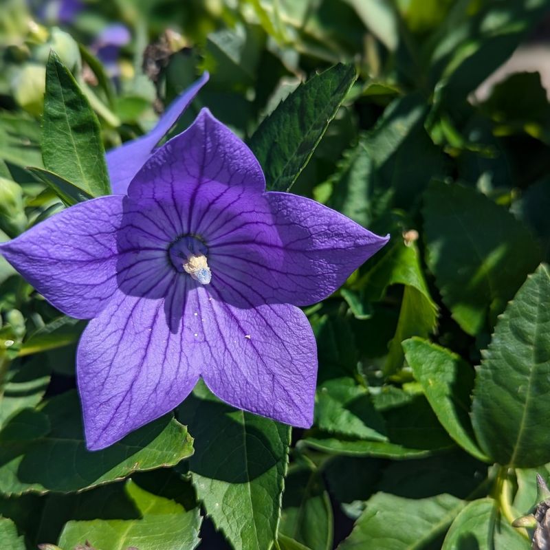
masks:
<path id="1" fill-rule="evenodd" d="M 38 405 L 49 383 L 50 369 L 43 359 L 12 362 L 0 395 L 0 429 L 21 410 Z"/>

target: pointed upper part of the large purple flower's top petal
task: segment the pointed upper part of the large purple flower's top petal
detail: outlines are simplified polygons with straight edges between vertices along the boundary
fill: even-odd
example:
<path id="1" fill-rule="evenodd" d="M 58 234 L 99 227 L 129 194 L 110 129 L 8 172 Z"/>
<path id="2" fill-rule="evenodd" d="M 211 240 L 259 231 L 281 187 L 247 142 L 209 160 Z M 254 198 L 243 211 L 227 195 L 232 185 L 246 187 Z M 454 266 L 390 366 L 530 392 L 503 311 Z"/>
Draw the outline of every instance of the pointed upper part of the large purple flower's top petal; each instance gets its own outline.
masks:
<path id="1" fill-rule="evenodd" d="M 128 189 L 135 199 L 170 197 L 192 184 L 217 181 L 263 192 L 265 179 L 252 151 L 227 126 L 202 109 L 186 131 L 160 147 Z"/>

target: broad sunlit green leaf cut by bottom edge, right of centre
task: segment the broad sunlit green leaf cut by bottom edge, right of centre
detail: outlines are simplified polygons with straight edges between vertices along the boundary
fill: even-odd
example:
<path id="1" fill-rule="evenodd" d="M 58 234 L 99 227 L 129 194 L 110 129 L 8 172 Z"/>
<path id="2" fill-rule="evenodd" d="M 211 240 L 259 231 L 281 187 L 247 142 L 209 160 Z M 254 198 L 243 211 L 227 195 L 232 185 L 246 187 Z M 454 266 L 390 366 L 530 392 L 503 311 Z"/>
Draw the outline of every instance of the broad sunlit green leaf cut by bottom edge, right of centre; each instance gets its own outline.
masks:
<path id="1" fill-rule="evenodd" d="M 369 499 L 351 535 L 340 544 L 338 550 L 412 550 L 428 547 L 441 537 L 464 505 L 463 500 L 450 494 L 403 498 L 377 493 Z"/>

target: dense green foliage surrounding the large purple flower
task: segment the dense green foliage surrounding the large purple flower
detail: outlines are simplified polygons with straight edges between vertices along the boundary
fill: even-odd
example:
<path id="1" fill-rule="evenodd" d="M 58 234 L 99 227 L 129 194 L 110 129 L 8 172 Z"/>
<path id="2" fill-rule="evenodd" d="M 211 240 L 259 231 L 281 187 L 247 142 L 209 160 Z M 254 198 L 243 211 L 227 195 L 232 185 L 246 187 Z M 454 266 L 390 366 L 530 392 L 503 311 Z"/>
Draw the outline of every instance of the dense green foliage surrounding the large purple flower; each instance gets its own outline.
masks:
<path id="1" fill-rule="evenodd" d="M 83 322 L 0 260 L 0 547 L 528 549 L 511 521 L 550 476 L 550 105 L 535 72 L 476 90 L 549 2 L 89 1 L 70 21 L 43 7 L 2 8 L 1 239 L 106 192 L 104 149 L 208 69 L 174 133 L 208 106 L 270 188 L 392 240 L 306 311 L 311 430 L 199 385 L 94 453 L 74 391 Z M 107 72 L 113 22 L 131 41 Z"/>

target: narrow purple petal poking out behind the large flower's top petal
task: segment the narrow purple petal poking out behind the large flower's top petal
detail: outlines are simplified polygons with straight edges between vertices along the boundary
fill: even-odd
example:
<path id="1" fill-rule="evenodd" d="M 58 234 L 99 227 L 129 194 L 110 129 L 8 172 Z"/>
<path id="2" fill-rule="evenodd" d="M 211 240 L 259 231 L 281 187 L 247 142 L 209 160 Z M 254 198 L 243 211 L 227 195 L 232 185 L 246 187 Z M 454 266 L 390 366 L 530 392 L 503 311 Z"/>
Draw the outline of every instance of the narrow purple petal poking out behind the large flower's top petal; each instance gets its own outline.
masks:
<path id="1" fill-rule="evenodd" d="M 113 193 L 117 195 L 126 193 L 132 178 L 151 157 L 157 143 L 177 122 L 181 113 L 187 109 L 201 87 L 208 82 L 208 78 L 208 72 L 204 72 L 197 82 L 184 90 L 166 109 L 153 130 L 136 140 L 111 149 L 107 153 L 107 168 L 109 169 Z"/>

